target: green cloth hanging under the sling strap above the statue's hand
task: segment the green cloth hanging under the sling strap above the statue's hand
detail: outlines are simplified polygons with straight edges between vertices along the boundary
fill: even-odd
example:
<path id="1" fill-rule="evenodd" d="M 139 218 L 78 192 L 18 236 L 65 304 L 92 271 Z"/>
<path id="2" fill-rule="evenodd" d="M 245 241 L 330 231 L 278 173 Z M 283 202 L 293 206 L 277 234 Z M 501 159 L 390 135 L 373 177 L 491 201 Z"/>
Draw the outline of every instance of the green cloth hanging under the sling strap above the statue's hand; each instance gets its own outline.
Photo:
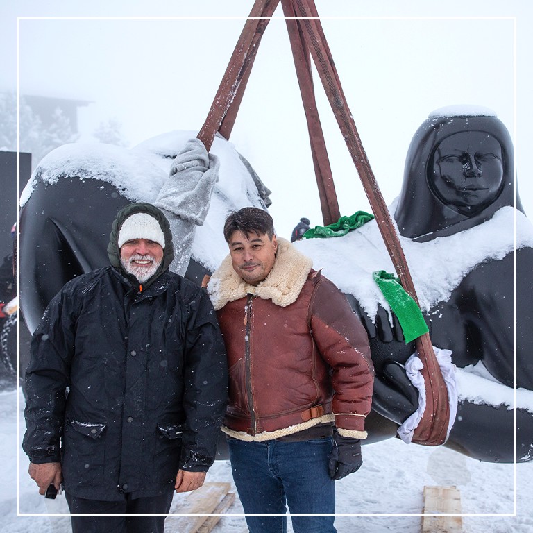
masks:
<path id="1" fill-rule="evenodd" d="M 398 316 L 406 344 L 428 332 L 428 325 L 424 321 L 420 307 L 405 292 L 400 280 L 394 274 L 378 270 L 372 273 L 372 277 L 391 306 L 391 310 Z"/>

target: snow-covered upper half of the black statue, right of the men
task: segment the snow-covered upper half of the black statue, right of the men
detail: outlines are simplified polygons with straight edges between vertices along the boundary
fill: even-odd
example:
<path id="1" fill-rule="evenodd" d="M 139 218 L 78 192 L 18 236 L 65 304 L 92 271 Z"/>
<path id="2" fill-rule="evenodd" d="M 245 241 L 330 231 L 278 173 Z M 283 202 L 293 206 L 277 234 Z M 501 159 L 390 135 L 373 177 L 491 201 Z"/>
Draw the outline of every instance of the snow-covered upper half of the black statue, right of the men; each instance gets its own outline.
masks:
<path id="1" fill-rule="evenodd" d="M 459 405 L 446 446 L 490 462 L 514 461 L 515 384 L 517 460 L 533 459 L 533 226 L 518 194 L 514 208 L 514 194 L 514 151 L 501 121 L 487 110 L 443 108 L 414 135 L 391 208 L 432 343 L 451 350 L 458 369 Z M 402 367 L 414 343 L 403 342 L 396 316 L 371 287 L 373 270 L 393 272 L 379 239 L 372 222 L 342 243 L 302 244 L 348 293 L 369 333 L 376 371 L 369 434 L 376 440 L 393 435 L 418 404 Z M 337 273 L 328 257 L 346 255 L 347 247 L 359 253 Z"/>

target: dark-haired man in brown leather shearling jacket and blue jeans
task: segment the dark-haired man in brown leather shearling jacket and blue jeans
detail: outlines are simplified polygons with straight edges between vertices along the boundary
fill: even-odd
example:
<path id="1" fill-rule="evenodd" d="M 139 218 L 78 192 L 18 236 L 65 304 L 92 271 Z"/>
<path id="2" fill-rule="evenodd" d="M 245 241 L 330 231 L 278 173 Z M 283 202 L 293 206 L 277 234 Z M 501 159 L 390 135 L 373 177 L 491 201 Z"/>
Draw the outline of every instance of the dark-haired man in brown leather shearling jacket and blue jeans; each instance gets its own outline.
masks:
<path id="1" fill-rule="evenodd" d="M 232 472 L 251 533 L 335 532 L 335 480 L 362 464 L 373 365 L 346 297 L 274 234 L 270 215 L 226 219 L 230 255 L 208 292 L 228 353 Z M 315 514 L 315 516 L 294 516 Z"/>

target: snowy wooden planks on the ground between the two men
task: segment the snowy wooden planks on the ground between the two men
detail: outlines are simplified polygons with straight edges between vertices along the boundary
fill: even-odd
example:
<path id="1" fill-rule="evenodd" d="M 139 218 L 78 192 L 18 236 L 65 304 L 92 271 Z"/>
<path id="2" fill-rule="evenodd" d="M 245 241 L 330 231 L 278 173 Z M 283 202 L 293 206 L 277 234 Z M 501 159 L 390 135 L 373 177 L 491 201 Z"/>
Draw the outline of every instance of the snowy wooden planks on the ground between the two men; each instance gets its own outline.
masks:
<path id="1" fill-rule="evenodd" d="M 204 483 L 196 491 L 174 496 L 170 514 L 165 520 L 165 532 L 210 533 L 221 516 L 209 515 L 225 513 L 235 501 L 235 493 L 230 492 L 230 488 L 230 483 Z M 185 514 L 189 516 L 176 516 Z"/>

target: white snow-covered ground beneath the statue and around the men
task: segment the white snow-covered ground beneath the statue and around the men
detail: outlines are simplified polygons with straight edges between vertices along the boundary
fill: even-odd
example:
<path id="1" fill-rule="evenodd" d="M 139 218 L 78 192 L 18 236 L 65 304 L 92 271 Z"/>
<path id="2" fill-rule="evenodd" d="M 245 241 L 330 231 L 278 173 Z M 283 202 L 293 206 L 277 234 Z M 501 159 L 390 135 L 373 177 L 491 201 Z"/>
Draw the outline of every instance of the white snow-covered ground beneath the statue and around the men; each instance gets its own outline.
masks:
<path id="1" fill-rule="evenodd" d="M 0 516 L 3 517 L 0 532 L 67 533 L 70 531 L 67 516 L 46 516 L 65 512 L 65 498 L 59 496 L 47 502 L 39 496 L 27 474 L 28 459 L 17 440 L 17 436 L 22 440 L 24 434 L 23 409 L 24 398 L 19 391 L 0 393 L 0 449 L 6 468 L 6 477 L 0 485 Z M 17 414 L 20 426 L 17 426 Z M 426 485 L 455 485 L 459 489 L 464 533 L 533 532 L 531 462 L 516 466 L 515 512 L 515 466 L 512 464 L 483 463 L 446 448 L 407 445 L 398 439 L 364 446 L 363 458 L 361 470 L 337 484 L 339 516 L 335 525 L 339 533 L 418 533 Z M 34 516 L 17 516 L 17 478 L 19 512 Z M 228 462 L 216 462 L 207 481 L 231 482 Z M 214 532 L 245 532 L 238 499 L 228 512 Z"/>

